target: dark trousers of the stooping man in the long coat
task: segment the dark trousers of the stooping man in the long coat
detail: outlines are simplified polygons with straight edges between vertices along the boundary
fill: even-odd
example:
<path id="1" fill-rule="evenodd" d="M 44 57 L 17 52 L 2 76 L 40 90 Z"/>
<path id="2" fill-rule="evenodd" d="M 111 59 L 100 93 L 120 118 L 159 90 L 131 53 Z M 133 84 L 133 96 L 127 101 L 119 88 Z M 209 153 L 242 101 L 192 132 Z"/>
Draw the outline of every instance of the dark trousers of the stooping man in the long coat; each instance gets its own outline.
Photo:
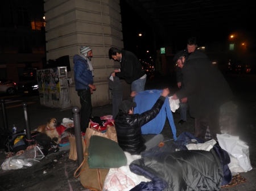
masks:
<path id="1" fill-rule="evenodd" d="M 207 126 L 209 126 L 210 135 L 217 141 L 216 134 L 221 134 L 220 108 L 211 111 L 203 117 L 195 118 L 195 137 L 204 140 Z"/>

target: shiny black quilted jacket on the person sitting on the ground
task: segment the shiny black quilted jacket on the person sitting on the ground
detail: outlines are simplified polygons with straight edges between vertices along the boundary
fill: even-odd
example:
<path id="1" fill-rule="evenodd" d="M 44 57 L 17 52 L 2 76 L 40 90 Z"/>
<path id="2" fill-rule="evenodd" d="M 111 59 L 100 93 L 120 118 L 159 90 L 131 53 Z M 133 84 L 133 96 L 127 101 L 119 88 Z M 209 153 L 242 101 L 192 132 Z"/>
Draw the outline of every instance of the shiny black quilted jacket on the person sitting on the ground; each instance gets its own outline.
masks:
<path id="1" fill-rule="evenodd" d="M 142 138 L 141 127 L 155 118 L 163 106 L 166 97 L 160 96 L 152 109 L 142 114 L 126 114 L 119 112 L 115 117 L 115 129 L 117 141 L 123 151 L 131 155 L 140 155 L 146 150 Z M 146 104 L 146 103 L 145 103 Z"/>

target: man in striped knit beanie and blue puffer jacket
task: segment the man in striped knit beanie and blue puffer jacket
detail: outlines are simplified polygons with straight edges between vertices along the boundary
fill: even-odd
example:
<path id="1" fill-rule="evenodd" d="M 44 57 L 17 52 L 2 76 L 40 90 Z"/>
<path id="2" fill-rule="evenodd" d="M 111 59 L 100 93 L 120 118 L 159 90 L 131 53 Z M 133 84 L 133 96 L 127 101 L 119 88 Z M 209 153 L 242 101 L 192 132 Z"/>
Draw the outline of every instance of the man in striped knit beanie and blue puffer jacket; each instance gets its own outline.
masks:
<path id="1" fill-rule="evenodd" d="M 80 126 L 81 131 L 85 132 L 92 114 L 91 94 L 96 90 L 96 86 L 93 85 L 93 67 L 90 62 L 93 57 L 92 49 L 89 46 L 80 46 L 80 53 L 73 57 L 73 63 L 76 91 L 81 104 Z"/>

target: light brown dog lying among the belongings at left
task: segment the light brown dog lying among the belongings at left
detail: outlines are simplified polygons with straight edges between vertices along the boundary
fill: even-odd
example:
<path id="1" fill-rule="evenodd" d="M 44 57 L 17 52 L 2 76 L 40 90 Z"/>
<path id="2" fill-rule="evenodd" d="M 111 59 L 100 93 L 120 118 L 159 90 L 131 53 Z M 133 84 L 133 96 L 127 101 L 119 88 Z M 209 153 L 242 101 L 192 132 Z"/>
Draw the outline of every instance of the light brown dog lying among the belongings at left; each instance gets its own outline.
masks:
<path id="1" fill-rule="evenodd" d="M 55 141 L 57 144 L 60 142 L 60 135 L 56 130 L 58 122 L 56 118 L 49 118 L 48 123 L 46 125 L 40 125 L 36 131 L 39 131 L 41 133 L 46 133 L 51 139 L 57 138 L 57 141 Z M 56 139 L 55 138 L 55 139 Z"/>

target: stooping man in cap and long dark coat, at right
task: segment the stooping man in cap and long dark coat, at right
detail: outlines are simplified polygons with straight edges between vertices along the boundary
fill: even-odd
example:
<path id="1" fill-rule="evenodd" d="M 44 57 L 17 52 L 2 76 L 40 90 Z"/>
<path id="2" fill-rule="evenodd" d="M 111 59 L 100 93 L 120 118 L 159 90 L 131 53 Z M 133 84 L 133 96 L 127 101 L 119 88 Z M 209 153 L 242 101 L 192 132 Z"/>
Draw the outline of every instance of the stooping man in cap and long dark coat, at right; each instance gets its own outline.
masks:
<path id="1" fill-rule="evenodd" d="M 175 62 L 182 69 L 184 88 L 172 99 L 188 98 L 189 112 L 195 117 L 195 137 L 204 139 L 209 125 L 210 134 L 217 141 L 220 131 L 220 107 L 232 99 L 233 94 L 221 72 L 204 52 L 187 53 L 181 50 Z"/>

